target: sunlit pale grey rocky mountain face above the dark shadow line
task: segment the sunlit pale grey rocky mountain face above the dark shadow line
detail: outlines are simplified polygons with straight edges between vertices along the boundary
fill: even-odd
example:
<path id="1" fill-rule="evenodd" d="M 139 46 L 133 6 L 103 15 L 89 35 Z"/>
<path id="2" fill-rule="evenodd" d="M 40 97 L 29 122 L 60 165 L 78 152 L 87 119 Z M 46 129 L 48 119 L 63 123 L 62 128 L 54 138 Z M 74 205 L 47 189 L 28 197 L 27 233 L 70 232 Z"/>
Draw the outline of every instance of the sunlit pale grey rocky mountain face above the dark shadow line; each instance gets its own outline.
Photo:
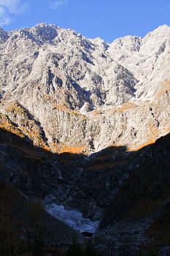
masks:
<path id="1" fill-rule="evenodd" d="M 1 29 L 0 42 L 1 112 L 20 129 L 34 120 L 43 131 L 39 146 L 135 150 L 169 132 L 169 26 L 107 44 L 39 24 Z M 16 102 L 28 113 L 23 123 L 20 112 L 9 109 Z M 30 137 L 37 145 L 36 134 Z"/>

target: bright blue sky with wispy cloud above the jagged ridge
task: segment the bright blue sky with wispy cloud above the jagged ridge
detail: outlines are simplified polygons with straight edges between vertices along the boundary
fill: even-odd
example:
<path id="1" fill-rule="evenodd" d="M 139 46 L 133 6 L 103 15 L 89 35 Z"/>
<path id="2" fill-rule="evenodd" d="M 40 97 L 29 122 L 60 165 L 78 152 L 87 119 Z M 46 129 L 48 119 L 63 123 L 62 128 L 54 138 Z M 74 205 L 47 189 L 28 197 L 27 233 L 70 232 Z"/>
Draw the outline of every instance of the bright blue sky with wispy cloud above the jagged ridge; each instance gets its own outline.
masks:
<path id="1" fill-rule="evenodd" d="M 143 37 L 170 25 L 170 0 L 0 0 L 0 26 L 6 30 L 45 22 L 107 42 L 127 34 Z"/>

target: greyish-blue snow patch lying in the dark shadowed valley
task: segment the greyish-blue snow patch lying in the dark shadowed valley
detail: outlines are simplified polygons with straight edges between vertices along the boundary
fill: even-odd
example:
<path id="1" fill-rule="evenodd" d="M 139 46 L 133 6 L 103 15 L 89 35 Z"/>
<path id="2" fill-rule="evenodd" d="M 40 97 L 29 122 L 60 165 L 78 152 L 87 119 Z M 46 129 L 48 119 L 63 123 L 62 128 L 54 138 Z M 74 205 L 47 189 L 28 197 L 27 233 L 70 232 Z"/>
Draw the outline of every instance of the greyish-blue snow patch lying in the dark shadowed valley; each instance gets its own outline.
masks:
<path id="1" fill-rule="evenodd" d="M 61 220 L 75 230 L 88 233 L 94 233 L 98 228 L 99 222 L 93 222 L 90 219 L 85 219 L 82 214 L 78 211 L 69 211 L 64 206 L 58 206 L 53 203 L 51 206 L 47 206 L 47 212 L 53 215 L 56 219 Z"/>

